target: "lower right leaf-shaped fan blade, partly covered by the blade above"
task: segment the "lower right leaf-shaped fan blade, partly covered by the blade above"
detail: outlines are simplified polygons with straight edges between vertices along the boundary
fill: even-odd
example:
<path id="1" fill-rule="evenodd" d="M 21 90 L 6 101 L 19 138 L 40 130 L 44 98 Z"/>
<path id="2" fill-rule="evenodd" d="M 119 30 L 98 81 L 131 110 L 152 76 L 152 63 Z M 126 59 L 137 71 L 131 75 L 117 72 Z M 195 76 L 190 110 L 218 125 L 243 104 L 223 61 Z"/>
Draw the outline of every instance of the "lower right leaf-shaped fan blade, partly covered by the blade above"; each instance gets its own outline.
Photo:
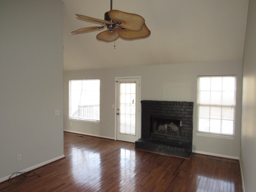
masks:
<path id="1" fill-rule="evenodd" d="M 140 31 L 131 31 L 131 30 L 118 30 L 118 34 L 121 38 L 127 40 L 133 40 L 138 38 L 146 38 L 150 35 L 150 30 L 147 28 L 146 24 L 143 25 L 142 30 Z"/>

